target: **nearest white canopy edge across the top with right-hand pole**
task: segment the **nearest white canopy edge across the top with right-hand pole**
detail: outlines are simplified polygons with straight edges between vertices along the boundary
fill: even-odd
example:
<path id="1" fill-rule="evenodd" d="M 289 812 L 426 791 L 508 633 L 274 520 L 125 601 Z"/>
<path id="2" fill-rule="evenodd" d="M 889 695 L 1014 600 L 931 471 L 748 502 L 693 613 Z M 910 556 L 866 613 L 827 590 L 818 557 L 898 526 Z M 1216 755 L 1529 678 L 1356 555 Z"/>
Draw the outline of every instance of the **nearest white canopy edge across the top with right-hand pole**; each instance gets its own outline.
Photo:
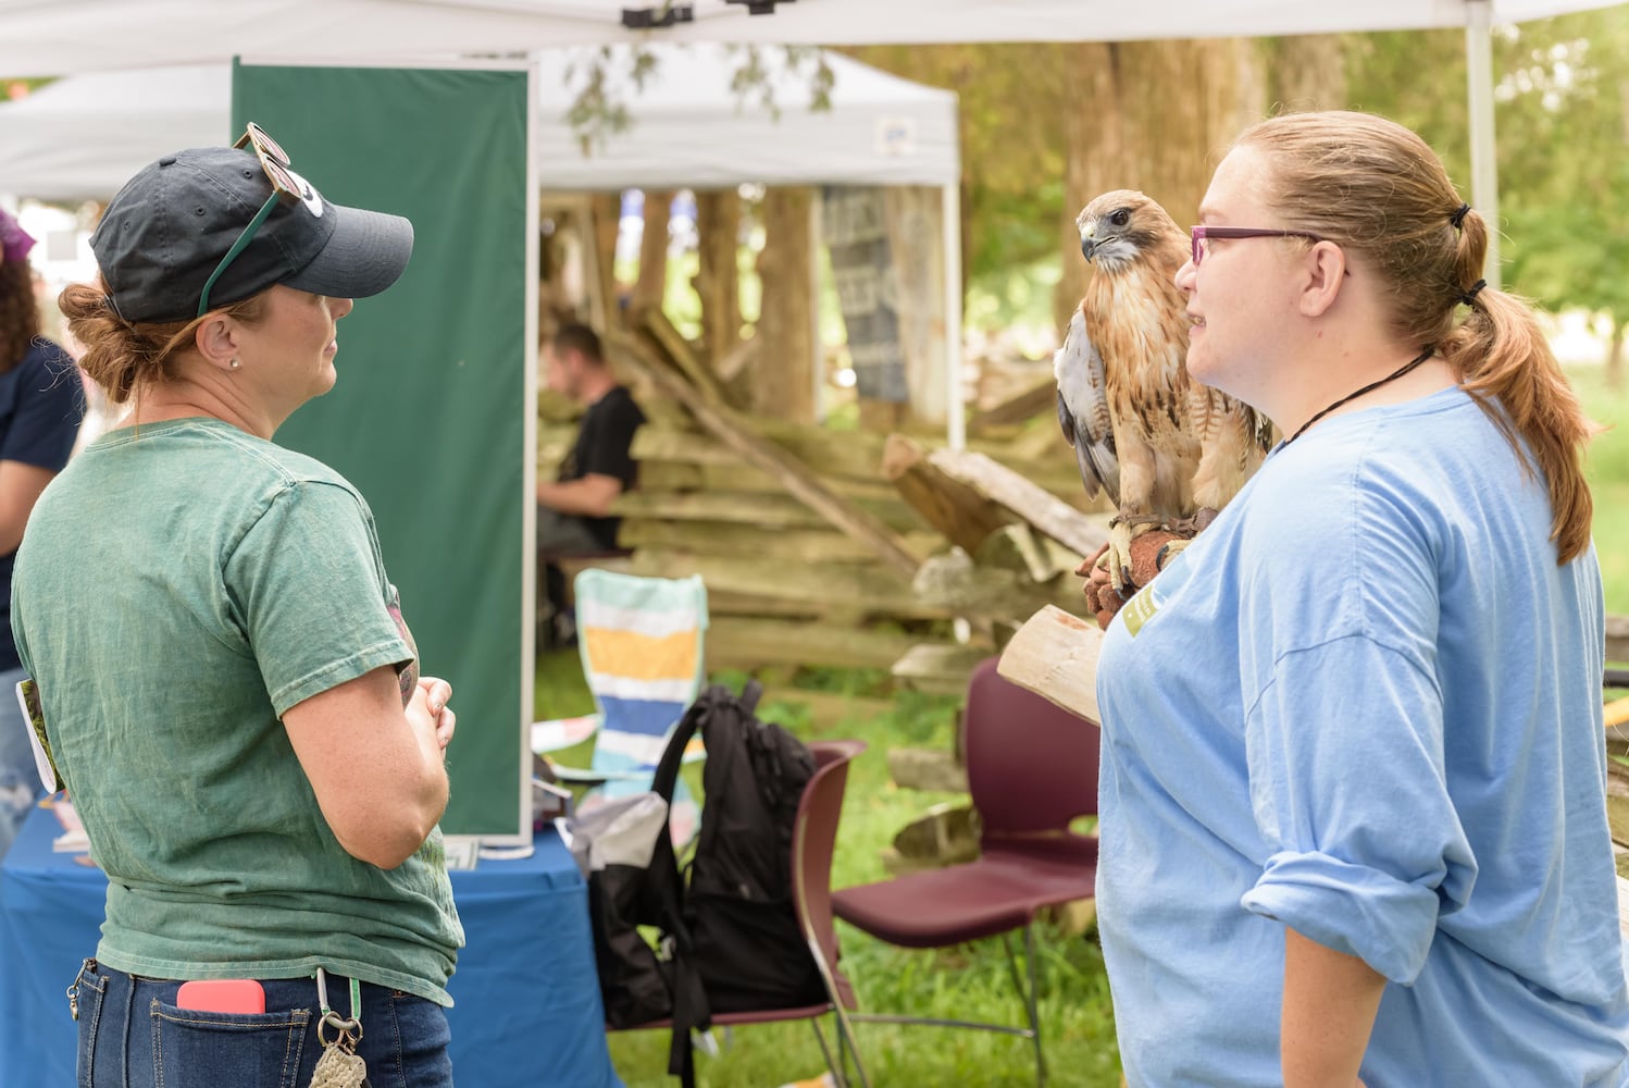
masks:
<path id="1" fill-rule="evenodd" d="M 1497 217 L 1491 28 L 1621 0 L 674 0 L 687 13 L 627 29 L 624 11 L 670 0 L 0 0 L 0 72 L 223 60 L 235 54 L 355 59 L 512 52 L 616 41 L 784 44 L 1127 41 L 1463 26 L 1469 55 L 1471 199 Z M 643 7 L 640 7 L 643 5 Z M 161 33 L 155 28 L 163 28 Z M 1489 274 L 1497 277 L 1497 233 Z"/>

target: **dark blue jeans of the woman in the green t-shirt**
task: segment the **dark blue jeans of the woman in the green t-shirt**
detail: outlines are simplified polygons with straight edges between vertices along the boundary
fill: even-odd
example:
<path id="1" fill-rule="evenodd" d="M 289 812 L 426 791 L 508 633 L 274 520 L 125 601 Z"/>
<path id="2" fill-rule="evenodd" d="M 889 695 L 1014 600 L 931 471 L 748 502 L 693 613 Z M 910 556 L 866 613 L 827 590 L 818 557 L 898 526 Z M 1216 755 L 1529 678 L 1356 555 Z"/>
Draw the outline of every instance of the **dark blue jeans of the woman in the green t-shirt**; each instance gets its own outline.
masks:
<path id="1" fill-rule="evenodd" d="M 266 979 L 264 1013 L 176 1008 L 179 982 L 86 959 L 70 987 L 80 1026 L 80 1088 L 306 1088 L 323 1044 L 316 979 Z M 329 976 L 334 1011 L 350 984 Z M 332 1038 L 332 1031 L 324 1029 Z M 373 1088 L 453 1088 L 451 1034 L 435 1002 L 362 984 L 362 1042 Z"/>

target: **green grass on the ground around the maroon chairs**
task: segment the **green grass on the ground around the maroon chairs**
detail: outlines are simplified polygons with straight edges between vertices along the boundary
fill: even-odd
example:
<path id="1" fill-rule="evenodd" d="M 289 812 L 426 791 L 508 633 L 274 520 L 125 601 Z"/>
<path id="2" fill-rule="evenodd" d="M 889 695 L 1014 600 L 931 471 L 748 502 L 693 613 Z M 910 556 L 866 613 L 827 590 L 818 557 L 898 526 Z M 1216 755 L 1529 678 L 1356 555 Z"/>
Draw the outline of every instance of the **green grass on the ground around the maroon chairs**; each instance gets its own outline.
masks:
<path id="1" fill-rule="evenodd" d="M 714 679 L 740 689 L 741 674 Z M 875 694 L 881 678 L 865 673 L 810 671 L 800 682 L 823 691 Z M 849 792 L 832 862 L 832 886 L 885 880 L 880 852 L 894 834 L 953 793 L 894 788 L 888 775 L 893 746 L 948 748 L 956 700 L 901 692 L 889 713 L 849 718 L 816 730 L 806 707 L 787 682 L 766 682 L 761 717 L 779 722 L 803 739 L 857 738 L 870 746 L 850 764 Z M 593 710 L 575 653 L 544 655 L 538 663 L 539 717 Z M 562 762 L 586 764 L 588 751 L 560 752 Z M 860 1008 L 958 1020 L 1023 1023 L 1023 1005 L 1007 974 L 999 940 L 946 951 L 909 951 L 876 941 L 839 922 L 842 967 L 854 982 Z M 1108 977 L 1096 943 L 1041 928 L 1036 933 L 1041 969 L 1041 1033 L 1051 1083 L 1080 1088 L 1119 1085 L 1114 1018 Z M 829 1023 L 828 1039 L 831 1039 Z M 860 1054 L 875 1085 L 1031 1085 L 1030 1042 L 1013 1036 L 943 1028 L 858 1024 Z M 671 1088 L 666 1077 L 666 1033 L 611 1036 L 611 1059 L 629 1088 Z M 824 1060 L 805 1023 L 761 1024 L 731 1033 L 717 1059 L 697 1054 L 697 1083 L 704 1088 L 775 1088 L 818 1075 Z"/>

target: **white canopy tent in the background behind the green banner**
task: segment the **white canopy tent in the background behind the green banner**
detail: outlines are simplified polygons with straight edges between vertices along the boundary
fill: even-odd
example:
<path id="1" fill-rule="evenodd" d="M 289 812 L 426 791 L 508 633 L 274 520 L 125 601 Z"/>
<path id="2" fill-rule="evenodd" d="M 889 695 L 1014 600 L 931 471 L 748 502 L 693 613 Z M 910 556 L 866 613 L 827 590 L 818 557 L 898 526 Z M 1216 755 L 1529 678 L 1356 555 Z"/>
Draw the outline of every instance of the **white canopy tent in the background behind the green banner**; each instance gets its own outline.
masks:
<path id="1" fill-rule="evenodd" d="M 0 8 L 3 10 L 3 8 Z M 714 189 L 762 184 L 930 186 L 940 191 L 945 256 L 948 440 L 963 445 L 955 396 L 961 342 L 961 160 L 956 96 L 837 54 L 829 109 L 810 109 L 813 57 L 788 67 L 767 57 L 771 114 L 753 93 L 740 101 L 740 67 L 722 46 L 660 42 L 655 68 L 634 86 L 629 52 L 611 50 L 608 91 L 634 127 L 595 140 L 583 155 L 565 119 L 585 75 L 585 49 L 539 52 L 538 174 L 542 189 L 578 192 Z M 567 78 L 575 67 L 575 78 Z M 44 200 L 106 200 L 155 155 L 228 137 L 226 64 L 90 72 L 16 103 L 0 103 L 0 192 Z"/>

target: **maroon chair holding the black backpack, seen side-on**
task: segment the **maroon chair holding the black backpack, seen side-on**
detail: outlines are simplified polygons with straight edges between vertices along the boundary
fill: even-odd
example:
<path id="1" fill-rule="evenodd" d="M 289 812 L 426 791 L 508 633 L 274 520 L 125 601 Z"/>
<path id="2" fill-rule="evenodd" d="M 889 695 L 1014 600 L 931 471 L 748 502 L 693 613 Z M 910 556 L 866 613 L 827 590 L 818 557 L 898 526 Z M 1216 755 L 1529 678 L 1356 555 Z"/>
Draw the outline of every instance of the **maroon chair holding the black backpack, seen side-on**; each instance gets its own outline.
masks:
<path id="1" fill-rule="evenodd" d="M 865 741 L 816 741 L 810 744 L 814 756 L 814 777 L 803 787 L 798 813 L 792 823 L 792 901 L 798 910 L 803 940 L 814 956 L 821 979 L 826 982 L 828 1000 L 800 1008 L 766 1008 L 757 1011 L 714 1013 L 718 1028 L 740 1024 L 767 1024 L 780 1020 L 808 1020 L 814 1028 L 826 1067 L 832 1072 L 837 1088 L 852 1081 L 847 1075 L 847 1057 L 854 1057 L 858 1083 L 870 1088 L 872 1081 L 860 1064 L 860 1051 L 854 1044 L 854 1026 L 849 1013 L 854 1010 L 854 987 L 837 966 L 837 928 L 831 910 L 831 858 L 837 844 L 837 821 L 842 816 L 842 795 L 849 785 L 849 761 L 865 751 Z M 819 1018 L 832 1013 L 837 1021 L 837 1055 L 826 1046 L 826 1033 Z M 671 1028 L 673 1021 L 660 1020 L 629 1028 Z"/>

